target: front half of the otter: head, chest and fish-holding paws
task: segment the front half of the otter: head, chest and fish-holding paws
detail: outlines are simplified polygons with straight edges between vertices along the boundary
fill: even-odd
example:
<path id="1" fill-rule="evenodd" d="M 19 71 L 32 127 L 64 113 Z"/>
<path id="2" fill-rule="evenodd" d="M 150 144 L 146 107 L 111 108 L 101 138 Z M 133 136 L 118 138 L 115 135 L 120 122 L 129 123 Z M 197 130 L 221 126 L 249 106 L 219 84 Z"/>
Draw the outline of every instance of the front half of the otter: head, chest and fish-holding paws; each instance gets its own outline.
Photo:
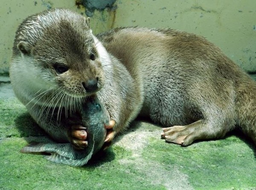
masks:
<path id="1" fill-rule="evenodd" d="M 44 11 L 20 24 L 9 73 L 15 95 L 37 124 L 77 150 L 88 146 L 76 117 L 85 97 L 97 95 L 111 116 L 106 147 L 116 133 L 113 126 L 128 126 L 142 104 L 136 82 L 92 34 L 90 19 L 70 10 Z"/>

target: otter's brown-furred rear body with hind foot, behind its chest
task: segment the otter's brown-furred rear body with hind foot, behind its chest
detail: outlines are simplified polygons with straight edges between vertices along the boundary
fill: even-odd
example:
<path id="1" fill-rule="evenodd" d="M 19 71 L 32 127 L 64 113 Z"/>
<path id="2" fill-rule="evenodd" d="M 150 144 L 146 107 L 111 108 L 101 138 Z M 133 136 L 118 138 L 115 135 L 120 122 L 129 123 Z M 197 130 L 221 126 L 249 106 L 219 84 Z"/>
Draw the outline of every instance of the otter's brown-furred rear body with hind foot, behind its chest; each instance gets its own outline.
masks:
<path id="1" fill-rule="evenodd" d="M 137 27 L 97 37 L 142 83 L 141 113 L 176 125 L 164 131 L 166 141 L 187 146 L 237 126 L 256 143 L 256 82 L 205 38 Z"/>

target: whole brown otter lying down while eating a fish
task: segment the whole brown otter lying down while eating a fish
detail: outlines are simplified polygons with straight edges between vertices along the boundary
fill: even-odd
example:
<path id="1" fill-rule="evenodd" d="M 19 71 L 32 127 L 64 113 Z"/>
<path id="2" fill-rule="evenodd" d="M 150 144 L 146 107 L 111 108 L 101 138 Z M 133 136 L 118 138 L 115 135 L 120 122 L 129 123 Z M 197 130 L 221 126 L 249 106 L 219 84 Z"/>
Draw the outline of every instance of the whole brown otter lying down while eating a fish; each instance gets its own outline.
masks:
<path id="1" fill-rule="evenodd" d="M 52 9 L 19 26 L 10 78 L 39 126 L 78 148 L 87 146 L 86 132 L 63 127 L 61 118 L 72 120 L 92 94 L 112 119 L 106 143 L 138 115 L 162 125 L 161 138 L 181 146 L 223 138 L 235 128 L 256 143 L 256 82 L 191 33 L 124 27 L 95 36 L 88 19 Z"/>

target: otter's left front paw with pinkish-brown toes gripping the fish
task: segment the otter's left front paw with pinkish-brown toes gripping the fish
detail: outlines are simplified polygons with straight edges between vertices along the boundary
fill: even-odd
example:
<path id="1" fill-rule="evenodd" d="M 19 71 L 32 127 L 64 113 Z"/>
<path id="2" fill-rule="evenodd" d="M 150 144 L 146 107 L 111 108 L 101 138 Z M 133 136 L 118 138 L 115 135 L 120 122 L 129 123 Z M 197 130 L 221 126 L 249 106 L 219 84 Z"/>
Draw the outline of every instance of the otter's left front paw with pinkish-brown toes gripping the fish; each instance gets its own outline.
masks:
<path id="1" fill-rule="evenodd" d="M 81 125 L 73 125 L 68 132 L 70 143 L 76 150 L 83 150 L 88 146 L 86 128 Z"/>

